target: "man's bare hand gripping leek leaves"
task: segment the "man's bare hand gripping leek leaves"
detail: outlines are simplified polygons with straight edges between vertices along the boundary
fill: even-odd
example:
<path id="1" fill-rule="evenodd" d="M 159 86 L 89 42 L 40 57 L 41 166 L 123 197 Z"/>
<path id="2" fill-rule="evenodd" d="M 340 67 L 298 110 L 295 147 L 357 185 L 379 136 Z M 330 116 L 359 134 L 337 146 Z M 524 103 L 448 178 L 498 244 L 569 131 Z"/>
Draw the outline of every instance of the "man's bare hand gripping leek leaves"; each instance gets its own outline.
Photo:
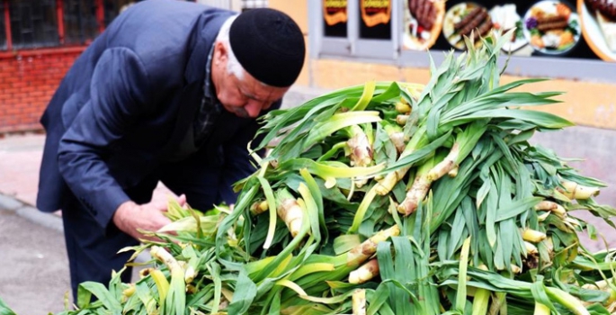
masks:
<path id="1" fill-rule="evenodd" d="M 177 201 L 180 205 L 184 205 L 186 196 L 177 197 Z M 138 232 L 138 229 L 156 231 L 169 224 L 171 220 L 165 217 L 164 211 L 167 211 L 166 202 L 152 201 L 144 204 L 124 202 L 113 214 L 113 223 L 133 238 L 157 240 L 157 238 L 144 236 Z"/>

